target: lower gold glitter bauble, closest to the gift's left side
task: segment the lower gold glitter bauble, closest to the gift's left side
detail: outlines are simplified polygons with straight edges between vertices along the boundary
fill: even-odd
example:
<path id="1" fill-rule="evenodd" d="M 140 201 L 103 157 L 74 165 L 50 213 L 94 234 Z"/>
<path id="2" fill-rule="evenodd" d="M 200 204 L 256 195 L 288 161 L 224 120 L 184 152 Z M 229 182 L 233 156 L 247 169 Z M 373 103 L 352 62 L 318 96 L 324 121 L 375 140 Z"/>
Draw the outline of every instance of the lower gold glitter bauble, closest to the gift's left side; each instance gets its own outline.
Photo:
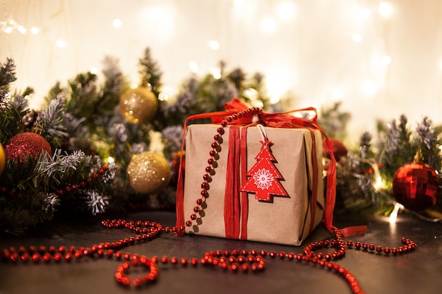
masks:
<path id="1" fill-rule="evenodd" d="M 161 154 L 150 151 L 133 155 L 127 167 L 127 174 L 131 187 L 143 194 L 158 192 L 165 188 L 171 177 L 167 159 Z"/>

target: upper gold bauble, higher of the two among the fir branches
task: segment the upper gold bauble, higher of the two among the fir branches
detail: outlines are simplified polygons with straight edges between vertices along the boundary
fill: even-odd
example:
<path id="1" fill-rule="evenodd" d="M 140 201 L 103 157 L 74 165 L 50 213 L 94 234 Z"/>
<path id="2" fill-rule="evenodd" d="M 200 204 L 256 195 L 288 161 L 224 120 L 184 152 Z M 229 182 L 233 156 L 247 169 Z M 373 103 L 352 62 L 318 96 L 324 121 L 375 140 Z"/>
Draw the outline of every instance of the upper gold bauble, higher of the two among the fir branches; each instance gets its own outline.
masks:
<path id="1" fill-rule="evenodd" d="M 129 123 L 147 123 L 157 113 L 158 101 L 152 91 L 137 87 L 121 95 L 119 108 Z"/>

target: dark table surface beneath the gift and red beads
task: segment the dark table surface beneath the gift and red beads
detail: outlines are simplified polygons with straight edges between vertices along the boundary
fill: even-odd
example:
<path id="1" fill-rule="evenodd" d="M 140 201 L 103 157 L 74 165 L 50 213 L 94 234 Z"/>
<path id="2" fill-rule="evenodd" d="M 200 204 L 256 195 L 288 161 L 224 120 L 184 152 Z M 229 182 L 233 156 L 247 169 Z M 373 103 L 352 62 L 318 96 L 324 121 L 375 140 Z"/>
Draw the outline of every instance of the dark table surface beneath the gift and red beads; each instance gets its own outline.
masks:
<path id="1" fill-rule="evenodd" d="M 173 226 L 172 212 L 138 212 L 124 219 L 157 221 Z M 385 255 L 364 250 L 347 250 L 338 264 L 349 269 L 365 293 L 442 293 L 442 224 L 429 223 L 415 216 L 400 214 L 391 224 L 381 216 L 340 216 L 335 226 L 345 227 L 366 224 L 364 235 L 345 240 L 374 243 L 383 247 L 401 246 L 406 237 L 417 243 L 417 250 L 404 255 Z M 59 221 L 47 228 L 38 228 L 22 236 L 1 235 L 0 249 L 23 245 L 66 245 L 90 247 L 97 243 L 114 242 L 134 235 L 122 229 L 102 228 L 96 221 Z M 225 240 L 205 236 L 176 237 L 162 233 L 159 238 L 124 248 L 124 252 L 148 257 L 198 257 L 210 250 L 256 249 L 276 252 L 301 253 L 305 245 L 330 238 L 319 226 L 299 247 Z M 124 288 L 114 280 L 114 271 L 121 261 L 114 258 L 83 258 L 71 262 L 54 261 L 45 264 L 28 262 L 0 262 L 0 294 L 30 293 L 351 293 L 346 281 L 335 272 L 318 265 L 288 259 L 266 257 L 265 271 L 257 273 L 232 273 L 210 267 L 181 267 L 159 265 L 156 283 L 139 290 Z"/>

